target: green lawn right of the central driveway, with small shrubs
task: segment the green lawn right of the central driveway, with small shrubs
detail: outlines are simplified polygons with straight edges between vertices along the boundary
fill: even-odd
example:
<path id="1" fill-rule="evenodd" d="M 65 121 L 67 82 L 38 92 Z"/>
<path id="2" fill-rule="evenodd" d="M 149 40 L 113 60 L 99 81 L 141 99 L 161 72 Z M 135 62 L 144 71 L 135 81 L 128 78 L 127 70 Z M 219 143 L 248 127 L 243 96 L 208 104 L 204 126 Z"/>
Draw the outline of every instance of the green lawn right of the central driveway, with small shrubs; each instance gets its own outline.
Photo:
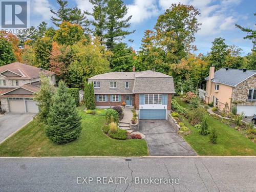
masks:
<path id="1" fill-rule="evenodd" d="M 175 97 L 180 105 L 189 109 L 189 105 L 180 98 Z M 215 127 L 218 139 L 217 144 L 209 142 L 209 135 L 202 136 L 194 126 L 191 126 L 187 118 L 180 116 L 182 122 L 191 130 L 191 134 L 183 138 L 194 148 L 198 155 L 234 156 L 256 155 L 256 143 L 251 142 L 245 136 L 232 127 L 210 117 L 208 114 L 209 130 Z"/>

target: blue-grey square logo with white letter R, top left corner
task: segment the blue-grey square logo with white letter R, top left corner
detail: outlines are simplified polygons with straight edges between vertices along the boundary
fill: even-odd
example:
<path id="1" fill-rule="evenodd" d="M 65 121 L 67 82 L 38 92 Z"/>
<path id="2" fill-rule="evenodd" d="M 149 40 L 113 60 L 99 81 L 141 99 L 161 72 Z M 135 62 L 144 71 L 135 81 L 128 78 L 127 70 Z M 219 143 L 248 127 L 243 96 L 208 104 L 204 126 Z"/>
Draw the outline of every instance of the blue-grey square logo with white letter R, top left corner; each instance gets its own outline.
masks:
<path id="1" fill-rule="evenodd" d="M 2 28 L 27 28 L 28 27 L 28 2 L 4 1 L 1 2 L 1 27 Z"/>

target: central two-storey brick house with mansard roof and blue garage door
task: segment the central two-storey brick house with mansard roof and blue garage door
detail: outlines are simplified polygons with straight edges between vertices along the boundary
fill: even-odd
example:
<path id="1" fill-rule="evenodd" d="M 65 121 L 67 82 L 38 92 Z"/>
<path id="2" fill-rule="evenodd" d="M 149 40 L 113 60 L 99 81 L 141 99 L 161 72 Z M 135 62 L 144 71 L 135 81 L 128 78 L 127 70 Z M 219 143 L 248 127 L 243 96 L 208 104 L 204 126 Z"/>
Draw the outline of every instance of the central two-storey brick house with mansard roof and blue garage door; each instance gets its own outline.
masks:
<path id="1" fill-rule="evenodd" d="M 110 72 L 89 78 L 94 83 L 96 108 L 134 106 L 140 119 L 167 119 L 173 77 L 155 71 Z"/>

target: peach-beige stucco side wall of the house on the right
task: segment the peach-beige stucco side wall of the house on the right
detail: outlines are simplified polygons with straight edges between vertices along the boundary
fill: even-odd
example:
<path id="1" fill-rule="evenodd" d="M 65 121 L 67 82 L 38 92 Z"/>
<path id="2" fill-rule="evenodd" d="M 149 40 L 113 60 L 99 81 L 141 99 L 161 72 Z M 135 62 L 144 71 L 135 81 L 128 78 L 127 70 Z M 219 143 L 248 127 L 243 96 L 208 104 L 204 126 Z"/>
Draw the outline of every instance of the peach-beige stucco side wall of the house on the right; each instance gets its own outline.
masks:
<path id="1" fill-rule="evenodd" d="M 230 106 L 231 106 L 230 98 L 232 97 L 233 88 L 230 87 L 230 86 L 226 86 L 225 84 L 211 82 L 211 86 L 210 86 L 210 90 L 209 90 L 208 83 L 209 83 L 209 81 L 207 81 L 207 83 L 206 83 L 206 98 L 205 98 L 205 101 L 207 103 L 210 103 L 210 102 L 213 101 L 212 100 L 213 96 L 215 96 L 216 98 L 219 99 L 218 107 L 219 107 L 220 110 L 222 110 L 224 108 L 225 103 L 228 103 L 228 107 L 230 109 Z M 215 84 L 220 85 L 219 91 L 215 90 Z"/>

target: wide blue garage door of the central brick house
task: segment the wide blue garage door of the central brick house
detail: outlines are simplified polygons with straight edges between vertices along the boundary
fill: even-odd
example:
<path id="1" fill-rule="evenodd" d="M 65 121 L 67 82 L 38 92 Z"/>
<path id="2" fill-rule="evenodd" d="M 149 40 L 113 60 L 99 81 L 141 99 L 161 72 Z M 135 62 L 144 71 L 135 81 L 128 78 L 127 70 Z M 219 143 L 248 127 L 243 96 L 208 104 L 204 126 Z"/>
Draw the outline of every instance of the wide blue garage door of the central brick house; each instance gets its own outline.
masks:
<path id="1" fill-rule="evenodd" d="M 166 119 L 166 110 L 140 110 L 140 119 Z"/>

